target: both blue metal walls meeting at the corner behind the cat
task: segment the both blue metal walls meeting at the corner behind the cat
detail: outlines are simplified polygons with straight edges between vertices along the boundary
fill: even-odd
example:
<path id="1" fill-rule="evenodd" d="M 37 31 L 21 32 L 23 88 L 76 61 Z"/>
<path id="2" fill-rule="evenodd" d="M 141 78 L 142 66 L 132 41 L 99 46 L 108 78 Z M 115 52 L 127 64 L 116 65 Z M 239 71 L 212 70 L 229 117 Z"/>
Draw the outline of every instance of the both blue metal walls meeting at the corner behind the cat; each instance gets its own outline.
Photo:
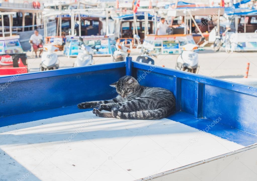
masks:
<path id="1" fill-rule="evenodd" d="M 113 98 L 116 93 L 109 84 L 125 74 L 133 75 L 141 85 L 171 90 L 176 97 L 176 111 L 185 113 L 172 119 L 181 116 L 180 122 L 201 130 L 208 121 L 218 119 L 222 125 L 243 130 L 244 134 L 257 134 L 257 89 L 135 61 L 24 74 L 10 84 L 12 76 L 1 77 L 0 116 Z M 8 87 L 1 89 L 4 85 Z M 224 138 L 232 133 L 218 132 L 217 128 L 212 131 L 221 137 L 226 134 Z"/>

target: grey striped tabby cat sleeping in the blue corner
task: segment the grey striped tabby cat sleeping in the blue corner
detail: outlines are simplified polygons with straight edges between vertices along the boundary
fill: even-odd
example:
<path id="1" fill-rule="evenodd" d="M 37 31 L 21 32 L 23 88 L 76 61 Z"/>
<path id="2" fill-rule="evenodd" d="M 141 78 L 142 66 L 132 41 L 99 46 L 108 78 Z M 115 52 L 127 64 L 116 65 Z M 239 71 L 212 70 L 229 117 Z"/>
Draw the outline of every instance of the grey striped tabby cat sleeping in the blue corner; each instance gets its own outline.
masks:
<path id="1" fill-rule="evenodd" d="M 107 101 L 83 102 L 78 104 L 78 108 L 97 107 L 93 109 L 97 116 L 118 119 L 161 119 L 175 111 L 175 97 L 167 89 L 141 86 L 131 76 L 121 77 L 110 86 L 116 88 L 117 97 Z"/>

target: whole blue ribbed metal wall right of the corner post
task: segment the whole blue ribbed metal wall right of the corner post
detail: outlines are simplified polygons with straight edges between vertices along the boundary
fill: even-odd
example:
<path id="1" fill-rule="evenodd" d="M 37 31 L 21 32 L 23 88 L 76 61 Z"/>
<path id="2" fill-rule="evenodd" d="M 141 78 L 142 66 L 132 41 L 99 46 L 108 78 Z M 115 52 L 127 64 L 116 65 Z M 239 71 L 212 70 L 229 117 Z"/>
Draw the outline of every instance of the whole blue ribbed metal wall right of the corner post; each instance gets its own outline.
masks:
<path id="1" fill-rule="evenodd" d="M 174 69 L 151 68 L 139 62 L 133 62 L 132 66 L 134 77 L 148 74 L 140 84 L 173 91 L 177 111 L 190 113 L 202 121 L 218 120 L 221 124 L 257 134 L 256 88 Z M 146 73 L 149 70 L 150 73 Z M 206 124 L 197 127 L 199 120 L 193 120 L 192 125 L 203 130 Z"/>

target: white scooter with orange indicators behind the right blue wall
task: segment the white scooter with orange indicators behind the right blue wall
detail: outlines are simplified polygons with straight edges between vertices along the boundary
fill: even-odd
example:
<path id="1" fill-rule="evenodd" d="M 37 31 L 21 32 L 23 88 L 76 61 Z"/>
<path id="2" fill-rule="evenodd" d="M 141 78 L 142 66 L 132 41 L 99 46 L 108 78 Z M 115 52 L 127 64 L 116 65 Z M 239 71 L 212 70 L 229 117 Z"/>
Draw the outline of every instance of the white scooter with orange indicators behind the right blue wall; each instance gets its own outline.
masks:
<path id="1" fill-rule="evenodd" d="M 197 44 L 188 43 L 182 47 L 182 53 L 177 58 L 176 69 L 183 70 L 191 73 L 198 73 L 198 49 Z"/>

